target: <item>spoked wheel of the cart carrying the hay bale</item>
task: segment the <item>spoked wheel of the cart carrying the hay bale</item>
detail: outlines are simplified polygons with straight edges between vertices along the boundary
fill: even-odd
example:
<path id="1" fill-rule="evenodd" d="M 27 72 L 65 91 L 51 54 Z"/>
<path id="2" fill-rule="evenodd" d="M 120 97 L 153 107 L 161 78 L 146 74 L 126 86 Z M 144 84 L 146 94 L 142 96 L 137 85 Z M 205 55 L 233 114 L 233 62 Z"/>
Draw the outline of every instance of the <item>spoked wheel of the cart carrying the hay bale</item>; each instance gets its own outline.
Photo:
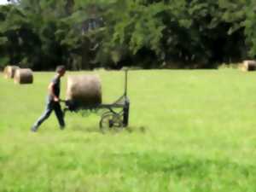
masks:
<path id="1" fill-rule="evenodd" d="M 118 131 L 119 128 L 123 127 L 123 116 L 119 113 L 104 113 L 100 121 L 100 129 L 102 132 L 106 131 Z"/>

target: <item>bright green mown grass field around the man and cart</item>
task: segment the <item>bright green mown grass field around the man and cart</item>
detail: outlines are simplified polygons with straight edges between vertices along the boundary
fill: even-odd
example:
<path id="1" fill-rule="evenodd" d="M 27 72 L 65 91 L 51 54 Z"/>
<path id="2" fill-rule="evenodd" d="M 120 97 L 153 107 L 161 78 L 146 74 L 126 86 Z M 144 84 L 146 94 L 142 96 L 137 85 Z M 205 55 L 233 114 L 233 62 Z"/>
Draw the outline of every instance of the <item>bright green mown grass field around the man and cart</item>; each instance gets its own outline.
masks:
<path id="1" fill-rule="evenodd" d="M 123 72 L 94 73 L 104 102 L 122 95 Z M 256 191 L 256 73 L 131 71 L 129 129 L 107 134 L 95 113 L 30 132 L 54 73 L 0 75 L 0 192 Z"/>

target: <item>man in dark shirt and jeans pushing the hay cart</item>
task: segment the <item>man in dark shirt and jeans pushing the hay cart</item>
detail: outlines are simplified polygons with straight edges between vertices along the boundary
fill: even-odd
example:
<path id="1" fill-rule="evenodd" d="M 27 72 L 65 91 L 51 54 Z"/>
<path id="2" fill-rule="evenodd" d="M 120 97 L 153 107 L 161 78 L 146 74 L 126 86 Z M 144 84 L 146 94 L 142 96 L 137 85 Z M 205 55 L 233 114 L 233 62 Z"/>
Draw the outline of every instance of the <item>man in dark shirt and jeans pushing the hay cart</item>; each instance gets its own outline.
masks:
<path id="1" fill-rule="evenodd" d="M 32 125 L 31 131 L 38 131 L 39 125 L 41 125 L 45 119 L 49 118 L 49 115 L 52 111 L 55 111 L 55 115 L 59 121 L 59 125 L 61 130 L 65 127 L 63 112 L 61 111 L 60 105 L 60 92 L 61 92 L 61 77 L 63 77 L 66 73 L 66 69 L 64 66 L 56 67 L 56 74 L 54 79 L 50 82 L 48 86 L 49 96 L 47 96 L 46 109 L 42 116 L 37 120 L 37 122 Z"/>

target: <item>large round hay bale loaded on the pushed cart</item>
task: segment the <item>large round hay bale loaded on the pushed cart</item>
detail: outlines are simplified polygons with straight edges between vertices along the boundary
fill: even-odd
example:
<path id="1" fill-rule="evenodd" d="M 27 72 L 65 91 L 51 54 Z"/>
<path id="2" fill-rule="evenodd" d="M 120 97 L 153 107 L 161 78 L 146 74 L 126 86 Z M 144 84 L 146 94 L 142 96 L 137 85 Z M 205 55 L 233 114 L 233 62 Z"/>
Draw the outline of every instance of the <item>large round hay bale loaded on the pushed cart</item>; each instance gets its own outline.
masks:
<path id="1" fill-rule="evenodd" d="M 102 103 L 102 84 L 96 75 L 67 77 L 67 101 L 79 106 L 94 106 Z"/>

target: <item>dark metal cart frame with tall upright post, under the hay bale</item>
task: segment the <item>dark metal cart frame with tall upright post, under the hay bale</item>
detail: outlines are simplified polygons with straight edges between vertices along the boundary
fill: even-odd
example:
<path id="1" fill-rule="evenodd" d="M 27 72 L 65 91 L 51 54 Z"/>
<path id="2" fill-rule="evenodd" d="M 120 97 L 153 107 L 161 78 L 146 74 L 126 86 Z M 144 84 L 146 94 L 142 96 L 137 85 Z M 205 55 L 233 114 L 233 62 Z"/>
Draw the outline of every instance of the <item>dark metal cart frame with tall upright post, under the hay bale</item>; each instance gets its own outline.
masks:
<path id="1" fill-rule="evenodd" d="M 127 96 L 127 86 L 128 86 L 128 70 L 125 70 L 125 90 L 124 94 L 119 97 L 118 100 L 113 102 L 112 104 L 99 104 L 99 105 L 91 105 L 91 106 L 76 106 L 75 103 L 70 101 L 61 101 L 65 102 L 64 114 L 67 111 L 71 112 L 79 112 L 81 110 L 90 110 L 90 109 L 107 109 L 108 111 L 102 113 L 102 117 L 100 120 L 100 128 L 102 127 L 102 121 L 110 117 L 118 117 L 115 118 L 114 121 L 119 121 L 117 126 L 119 127 L 127 127 L 129 125 L 129 113 L 130 113 L 130 100 Z M 119 111 L 117 111 L 119 110 Z M 118 120 L 117 120 L 118 119 Z M 113 120 L 108 120 L 108 126 L 114 126 L 115 122 Z"/>

